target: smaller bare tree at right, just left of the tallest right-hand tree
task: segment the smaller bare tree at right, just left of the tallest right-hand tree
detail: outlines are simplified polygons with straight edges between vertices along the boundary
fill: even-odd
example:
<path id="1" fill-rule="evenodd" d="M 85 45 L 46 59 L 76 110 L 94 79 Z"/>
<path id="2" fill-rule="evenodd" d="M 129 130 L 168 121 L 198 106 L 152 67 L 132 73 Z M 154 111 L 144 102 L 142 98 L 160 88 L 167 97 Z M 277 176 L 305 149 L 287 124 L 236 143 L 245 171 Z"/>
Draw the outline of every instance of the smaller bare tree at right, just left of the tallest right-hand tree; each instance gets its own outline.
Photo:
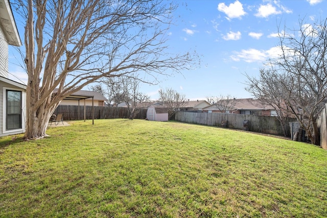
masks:
<path id="1" fill-rule="evenodd" d="M 289 77 L 279 74 L 274 69 L 261 69 L 259 78 L 246 75 L 248 85 L 245 89 L 261 104 L 269 105 L 276 111 L 276 117 L 281 123 L 284 135 L 287 136 L 290 107 L 286 104 L 288 96 Z"/>

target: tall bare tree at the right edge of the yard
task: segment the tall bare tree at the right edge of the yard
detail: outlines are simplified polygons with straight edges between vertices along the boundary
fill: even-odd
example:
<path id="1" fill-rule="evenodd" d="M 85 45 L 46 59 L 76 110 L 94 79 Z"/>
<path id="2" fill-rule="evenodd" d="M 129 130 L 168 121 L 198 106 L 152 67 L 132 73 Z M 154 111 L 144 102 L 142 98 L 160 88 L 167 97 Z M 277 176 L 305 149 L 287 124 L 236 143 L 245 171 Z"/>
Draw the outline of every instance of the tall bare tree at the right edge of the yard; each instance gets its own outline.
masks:
<path id="1" fill-rule="evenodd" d="M 279 35 L 282 54 L 268 64 L 286 80 L 283 79 L 281 98 L 311 142 L 320 146 L 317 118 L 327 96 L 327 19 L 313 24 L 300 20 L 298 30 L 284 28 L 282 33 Z"/>

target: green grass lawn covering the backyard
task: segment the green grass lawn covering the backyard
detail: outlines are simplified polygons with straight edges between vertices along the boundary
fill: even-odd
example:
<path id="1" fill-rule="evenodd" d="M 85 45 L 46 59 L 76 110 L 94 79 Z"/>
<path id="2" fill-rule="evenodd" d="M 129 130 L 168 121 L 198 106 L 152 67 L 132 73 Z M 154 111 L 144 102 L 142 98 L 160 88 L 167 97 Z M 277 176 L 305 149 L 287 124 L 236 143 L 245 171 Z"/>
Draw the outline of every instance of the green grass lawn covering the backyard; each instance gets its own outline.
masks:
<path id="1" fill-rule="evenodd" d="M 327 151 L 177 122 L 106 119 L 0 138 L 0 217 L 327 217 Z"/>

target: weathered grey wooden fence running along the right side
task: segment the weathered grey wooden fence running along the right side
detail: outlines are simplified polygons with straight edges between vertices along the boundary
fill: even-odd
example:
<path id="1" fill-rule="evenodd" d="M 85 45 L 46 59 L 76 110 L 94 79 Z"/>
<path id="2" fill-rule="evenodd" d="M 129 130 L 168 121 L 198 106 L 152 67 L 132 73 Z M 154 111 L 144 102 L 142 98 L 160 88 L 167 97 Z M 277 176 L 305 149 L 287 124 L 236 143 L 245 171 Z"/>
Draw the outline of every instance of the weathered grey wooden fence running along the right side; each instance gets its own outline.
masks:
<path id="1" fill-rule="evenodd" d="M 274 116 L 258 116 L 247 114 L 230 114 L 230 113 L 193 113 L 178 111 L 175 115 L 175 120 L 191 123 L 201 124 L 207 126 L 221 127 L 222 123 L 227 120 L 227 128 L 231 129 L 244 129 L 248 128 L 249 131 L 283 135 L 283 128 L 279 120 Z M 247 125 L 244 126 L 244 120 L 248 120 Z M 295 119 L 290 118 L 288 122 L 294 122 Z M 290 136 L 290 128 L 287 122 L 287 136 Z"/>

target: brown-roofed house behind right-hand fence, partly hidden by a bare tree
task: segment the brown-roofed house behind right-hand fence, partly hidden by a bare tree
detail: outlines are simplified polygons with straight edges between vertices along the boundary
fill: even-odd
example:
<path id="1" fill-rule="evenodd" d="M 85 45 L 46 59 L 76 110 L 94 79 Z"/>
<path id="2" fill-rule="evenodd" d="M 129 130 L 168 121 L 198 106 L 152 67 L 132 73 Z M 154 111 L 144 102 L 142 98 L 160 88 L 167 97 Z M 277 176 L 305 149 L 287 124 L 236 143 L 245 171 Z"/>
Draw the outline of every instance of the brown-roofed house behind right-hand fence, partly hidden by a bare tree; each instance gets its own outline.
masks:
<path id="1" fill-rule="evenodd" d="M 220 100 L 224 101 L 224 100 Z M 236 103 L 233 109 L 226 111 L 226 113 L 235 114 L 252 114 L 252 115 L 262 115 L 262 116 L 275 116 L 276 111 L 273 107 L 264 105 L 255 99 L 235 99 Z M 202 109 L 203 112 L 207 113 L 222 113 L 219 110 L 217 104 L 205 107 Z"/>

